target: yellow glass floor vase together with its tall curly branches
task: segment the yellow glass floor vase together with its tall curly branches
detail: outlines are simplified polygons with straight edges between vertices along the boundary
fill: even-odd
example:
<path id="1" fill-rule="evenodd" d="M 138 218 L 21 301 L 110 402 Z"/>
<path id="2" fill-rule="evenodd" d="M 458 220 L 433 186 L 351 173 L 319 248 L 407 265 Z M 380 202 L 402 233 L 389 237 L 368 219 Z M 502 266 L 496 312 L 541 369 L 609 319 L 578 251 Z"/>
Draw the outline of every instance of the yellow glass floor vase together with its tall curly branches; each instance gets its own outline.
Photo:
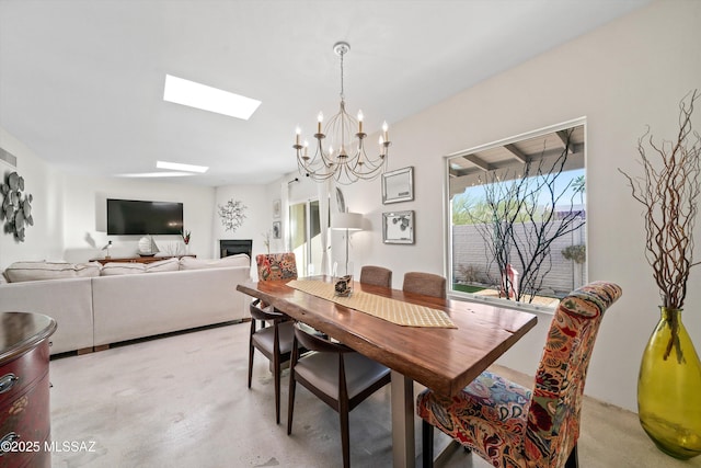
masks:
<path id="1" fill-rule="evenodd" d="M 645 258 L 662 299 L 660 320 L 640 368 L 639 418 L 658 448 L 681 459 L 701 454 L 701 363 L 681 321 L 689 275 L 701 263 L 693 261 L 701 137 L 692 130 L 691 115 L 698 98 L 694 90 L 681 100 L 674 141 L 655 142 L 650 128 L 639 139 L 642 175 L 619 169 L 644 208 Z"/>

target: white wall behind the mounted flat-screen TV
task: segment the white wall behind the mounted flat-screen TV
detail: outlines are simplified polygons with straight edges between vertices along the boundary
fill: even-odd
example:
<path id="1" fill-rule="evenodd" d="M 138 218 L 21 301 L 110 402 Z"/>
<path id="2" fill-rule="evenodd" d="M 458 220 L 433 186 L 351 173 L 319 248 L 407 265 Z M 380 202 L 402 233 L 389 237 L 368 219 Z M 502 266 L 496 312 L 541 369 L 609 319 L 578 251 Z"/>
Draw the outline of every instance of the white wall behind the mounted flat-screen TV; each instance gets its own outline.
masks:
<path id="1" fill-rule="evenodd" d="M 25 180 L 25 192 L 34 196 L 34 226 L 24 242 L 0 236 L 0 269 L 22 260 L 84 262 L 104 256 L 101 248 L 112 240 L 112 256 L 137 253 L 140 236 L 107 236 L 105 199 L 154 199 L 183 203 L 185 229 L 192 231 L 191 253 L 212 258 L 215 189 L 119 178 L 85 178 L 55 170 L 22 142 L 0 128 L 0 146 L 18 158 L 18 167 L 0 161 L 2 174 L 15 171 Z M 180 236 L 153 236 L 164 250 Z M 217 255 L 218 256 L 218 255 Z"/>

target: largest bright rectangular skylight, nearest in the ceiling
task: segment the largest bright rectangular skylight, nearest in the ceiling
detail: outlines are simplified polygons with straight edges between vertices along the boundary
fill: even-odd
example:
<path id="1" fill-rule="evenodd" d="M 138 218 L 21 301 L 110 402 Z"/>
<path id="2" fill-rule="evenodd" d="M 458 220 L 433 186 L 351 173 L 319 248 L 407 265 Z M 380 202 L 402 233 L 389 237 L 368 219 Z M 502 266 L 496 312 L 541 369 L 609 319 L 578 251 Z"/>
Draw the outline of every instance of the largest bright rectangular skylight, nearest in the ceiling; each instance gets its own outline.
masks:
<path id="1" fill-rule="evenodd" d="M 261 101 L 182 78 L 165 76 L 163 101 L 248 121 Z"/>

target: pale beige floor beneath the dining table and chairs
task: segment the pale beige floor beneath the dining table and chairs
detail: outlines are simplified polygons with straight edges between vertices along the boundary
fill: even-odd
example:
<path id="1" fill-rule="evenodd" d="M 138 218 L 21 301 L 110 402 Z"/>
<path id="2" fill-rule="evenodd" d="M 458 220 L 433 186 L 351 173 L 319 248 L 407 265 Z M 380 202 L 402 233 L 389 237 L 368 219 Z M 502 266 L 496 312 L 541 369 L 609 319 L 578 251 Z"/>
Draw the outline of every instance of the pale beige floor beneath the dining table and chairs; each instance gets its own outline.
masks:
<path id="1" fill-rule="evenodd" d="M 53 454 L 53 466 L 341 466 L 335 412 L 298 386 L 288 436 L 287 373 L 280 425 L 275 424 L 273 381 L 261 355 L 253 387 L 246 388 L 248 332 L 248 323 L 233 324 L 53 359 L 51 437 L 69 447 Z M 526 376 L 496 370 L 530 386 Z M 387 387 L 350 413 L 352 465 L 390 467 L 390 430 Z M 436 433 L 438 450 L 448 440 Z M 418 420 L 416 452 L 421 453 Z M 667 457 L 647 440 L 635 414 L 588 399 L 579 465 L 701 467 L 701 457 L 687 463 Z M 490 465 L 458 450 L 447 466 Z"/>

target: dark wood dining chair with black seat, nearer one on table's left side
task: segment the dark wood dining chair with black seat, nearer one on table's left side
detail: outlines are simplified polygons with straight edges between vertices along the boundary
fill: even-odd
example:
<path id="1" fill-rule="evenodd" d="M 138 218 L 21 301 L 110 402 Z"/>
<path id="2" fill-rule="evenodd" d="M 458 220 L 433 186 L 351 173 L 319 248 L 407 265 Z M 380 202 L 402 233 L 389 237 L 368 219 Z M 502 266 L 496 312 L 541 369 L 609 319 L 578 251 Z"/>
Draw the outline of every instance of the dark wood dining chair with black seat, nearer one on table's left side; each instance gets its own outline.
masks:
<path id="1" fill-rule="evenodd" d="M 311 351 L 300 357 L 298 343 Z M 338 413 L 343 466 L 350 466 L 348 413 L 375 391 L 390 383 L 390 369 L 333 342 L 306 326 L 295 326 L 295 350 L 289 370 L 287 434 L 292 433 L 295 388 L 299 381 Z"/>

